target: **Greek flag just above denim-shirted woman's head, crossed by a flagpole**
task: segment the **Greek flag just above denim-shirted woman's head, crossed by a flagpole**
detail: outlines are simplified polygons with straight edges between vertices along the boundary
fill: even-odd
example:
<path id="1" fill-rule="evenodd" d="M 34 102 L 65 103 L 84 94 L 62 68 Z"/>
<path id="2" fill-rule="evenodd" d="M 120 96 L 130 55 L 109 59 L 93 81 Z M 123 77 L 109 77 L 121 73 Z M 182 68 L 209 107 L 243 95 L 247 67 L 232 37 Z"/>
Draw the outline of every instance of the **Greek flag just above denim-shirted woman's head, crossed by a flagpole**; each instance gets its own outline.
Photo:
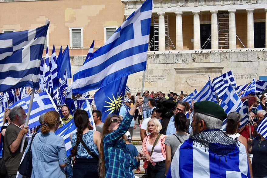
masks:
<path id="1" fill-rule="evenodd" d="M 27 114 L 29 103 L 30 103 L 30 98 L 31 98 L 30 96 L 27 98 L 23 98 L 15 102 L 8 108 L 13 108 L 15 106 L 22 106 L 22 108 L 25 110 L 25 113 Z M 39 93 L 39 94 L 34 94 L 31 115 L 29 118 L 29 128 L 33 128 L 33 127 L 40 125 L 39 116 L 42 113 L 45 113 L 47 111 L 57 111 L 56 105 L 54 104 L 50 95 L 46 91 Z M 0 113 L 1 127 L 3 125 L 3 116 L 4 116 L 4 112 Z"/>

